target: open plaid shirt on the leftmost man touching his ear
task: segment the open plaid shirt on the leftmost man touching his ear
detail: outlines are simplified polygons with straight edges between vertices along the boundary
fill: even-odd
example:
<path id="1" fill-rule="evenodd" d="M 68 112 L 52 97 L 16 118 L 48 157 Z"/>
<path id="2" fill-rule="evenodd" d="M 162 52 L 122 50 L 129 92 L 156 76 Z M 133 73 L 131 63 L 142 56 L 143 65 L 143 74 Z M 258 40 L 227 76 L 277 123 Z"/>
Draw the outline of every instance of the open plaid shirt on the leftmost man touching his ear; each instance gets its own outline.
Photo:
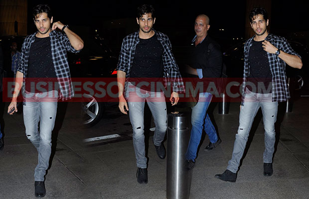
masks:
<path id="1" fill-rule="evenodd" d="M 25 78 L 27 78 L 29 51 L 31 44 L 35 40 L 35 34 L 36 32 L 27 36 L 21 48 L 21 56 L 17 70 L 23 73 L 23 84 L 25 84 Z M 80 50 L 75 50 L 69 38 L 62 32 L 53 30 L 49 33 L 49 37 L 51 41 L 52 61 L 60 89 L 59 98 L 60 100 L 70 100 L 74 96 L 74 92 L 66 51 L 78 53 Z M 22 87 L 22 93 L 25 97 L 25 87 Z"/>

